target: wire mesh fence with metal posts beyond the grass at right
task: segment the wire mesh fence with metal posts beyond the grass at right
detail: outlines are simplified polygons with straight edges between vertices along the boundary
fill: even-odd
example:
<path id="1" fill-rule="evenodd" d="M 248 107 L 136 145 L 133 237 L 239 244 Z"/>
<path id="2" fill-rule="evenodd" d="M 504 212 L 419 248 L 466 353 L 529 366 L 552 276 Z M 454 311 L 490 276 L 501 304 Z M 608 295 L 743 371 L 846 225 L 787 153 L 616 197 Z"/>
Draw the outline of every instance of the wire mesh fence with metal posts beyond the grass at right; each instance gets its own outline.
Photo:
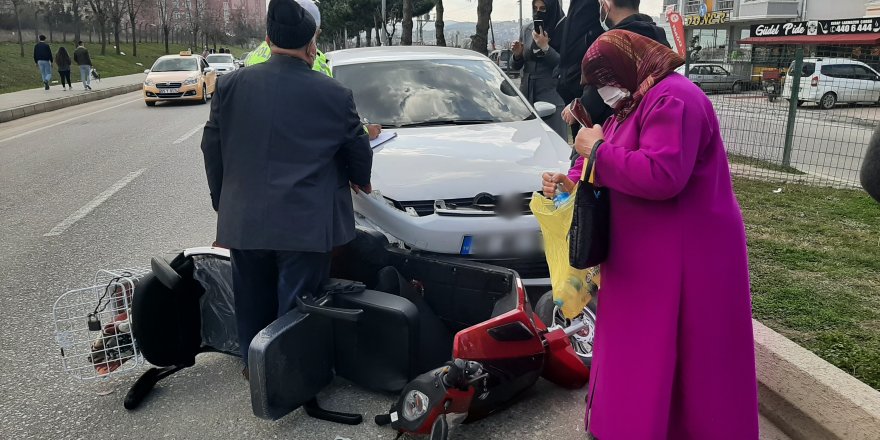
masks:
<path id="1" fill-rule="evenodd" d="M 880 121 L 878 67 L 880 48 L 768 46 L 684 71 L 715 106 L 735 175 L 856 187 Z"/>

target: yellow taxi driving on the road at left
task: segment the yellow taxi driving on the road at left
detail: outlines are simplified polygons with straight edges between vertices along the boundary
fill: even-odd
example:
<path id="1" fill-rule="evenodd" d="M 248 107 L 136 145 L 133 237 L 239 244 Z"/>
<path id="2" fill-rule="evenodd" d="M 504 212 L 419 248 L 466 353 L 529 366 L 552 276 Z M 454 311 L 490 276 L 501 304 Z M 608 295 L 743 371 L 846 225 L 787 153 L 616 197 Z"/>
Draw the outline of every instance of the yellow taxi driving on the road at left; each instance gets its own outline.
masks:
<path id="1" fill-rule="evenodd" d="M 200 55 L 181 52 L 165 55 L 145 70 L 144 102 L 152 107 L 159 101 L 207 102 L 217 86 L 217 71 Z"/>

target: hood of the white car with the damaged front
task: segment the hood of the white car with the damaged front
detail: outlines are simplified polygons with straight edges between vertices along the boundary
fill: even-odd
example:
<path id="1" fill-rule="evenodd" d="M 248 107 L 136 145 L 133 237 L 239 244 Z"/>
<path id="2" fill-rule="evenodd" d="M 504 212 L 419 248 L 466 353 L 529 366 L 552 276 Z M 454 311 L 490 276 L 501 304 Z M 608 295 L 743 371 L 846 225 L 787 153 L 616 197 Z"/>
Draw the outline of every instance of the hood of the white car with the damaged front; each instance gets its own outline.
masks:
<path id="1" fill-rule="evenodd" d="M 540 120 L 386 131 L 397 137 L 373 151 L 372 185 L 397 201 L 532 192 L 571 154 Z"/>

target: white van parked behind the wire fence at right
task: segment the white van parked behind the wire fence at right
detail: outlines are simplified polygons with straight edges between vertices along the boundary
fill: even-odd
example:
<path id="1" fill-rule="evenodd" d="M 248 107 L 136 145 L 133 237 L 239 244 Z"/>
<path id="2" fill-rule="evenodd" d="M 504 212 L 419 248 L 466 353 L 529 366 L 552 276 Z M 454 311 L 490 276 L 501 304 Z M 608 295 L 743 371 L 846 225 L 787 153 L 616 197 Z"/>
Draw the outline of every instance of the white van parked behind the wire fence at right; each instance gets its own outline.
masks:
<path id="1" fill-rule="evenodd" d="M 789 72 L 794 72 L 792 61 Z M 794 76 L 785 78 L 782 96 L 791 99 Z M 880 74 L 865 63 L 846 58 L 805 58 L 798 105 L 814 102 L 828 110 L 838 103 L 880 104 Z"/>

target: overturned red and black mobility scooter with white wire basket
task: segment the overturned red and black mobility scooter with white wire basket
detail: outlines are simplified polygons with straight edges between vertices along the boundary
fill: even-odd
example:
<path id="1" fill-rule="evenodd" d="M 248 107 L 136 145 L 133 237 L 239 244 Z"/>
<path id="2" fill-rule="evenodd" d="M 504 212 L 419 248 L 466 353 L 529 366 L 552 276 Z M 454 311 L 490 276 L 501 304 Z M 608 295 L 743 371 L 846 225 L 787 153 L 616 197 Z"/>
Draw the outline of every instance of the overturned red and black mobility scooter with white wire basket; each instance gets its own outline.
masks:
<path id="1" fill-rule="evenodd" d="M 447 415 L 450 421 L 485 417 L 541 376 L 568 388 L 588 379 L 570 342 L 587 323 L 548 329 L 509 269 L 414 254 L 359 230 L 335 252 L 331 277 L 251 342 L 256 416 L 275 420 L 304 407 L 312 417 L 358 424 L 361 415 L 327 410 L 316 400 L 339 375 L 369 390 L 400 393 L 376 423 L 446 438 Z M 126 408 L 136 408 L 159 380 L 194 365 L 199 353 L 238 355 L 231 280 L 228 251 L 205 247 L 153 258 L 149 270 L 97 284 L 85 295 L 97 302 L 68 292 L 55 305 L 65 366 L 79 376 L 86 370 L 103 376 L 148 361 L 153 367 L 125 398 Z M 80 330 L 92 337 L 71 337 Z"/>

